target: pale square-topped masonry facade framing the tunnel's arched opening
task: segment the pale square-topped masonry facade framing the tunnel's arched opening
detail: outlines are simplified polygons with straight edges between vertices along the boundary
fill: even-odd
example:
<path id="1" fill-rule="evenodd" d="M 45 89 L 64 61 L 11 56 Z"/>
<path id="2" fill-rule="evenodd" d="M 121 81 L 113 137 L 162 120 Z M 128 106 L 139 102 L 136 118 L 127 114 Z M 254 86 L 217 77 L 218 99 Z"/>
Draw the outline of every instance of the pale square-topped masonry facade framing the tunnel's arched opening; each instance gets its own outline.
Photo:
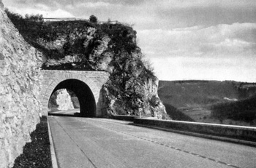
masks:
<path id="1" fill-rule="evenodd" d="M 108 81 L 109 73 L 103 71 L 58 71 L 58 70 L 42 70 L 42 113 L 47 115 L 48 113 L 48 101 L 55 87 L 64 80 L 78 79 L 83 81 L 89 86 L 91 92 L 94 95 L 96 101 L 97 113 L 96 116 L 103 116 L 102 108 L 104 102 L 102 98 L 102 86 Z M 85 93 L 86 94 L 86 93 Z"/>

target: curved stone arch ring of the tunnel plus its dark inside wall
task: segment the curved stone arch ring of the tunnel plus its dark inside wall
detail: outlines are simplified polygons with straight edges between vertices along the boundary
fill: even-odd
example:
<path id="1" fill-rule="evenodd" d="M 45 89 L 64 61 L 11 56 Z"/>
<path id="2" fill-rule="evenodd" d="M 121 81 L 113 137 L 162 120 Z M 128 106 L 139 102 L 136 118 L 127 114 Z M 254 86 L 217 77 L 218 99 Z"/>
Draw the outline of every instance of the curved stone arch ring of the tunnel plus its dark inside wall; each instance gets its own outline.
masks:
<path id="1" fill-rule="evenodd" d="M 49 75 L 49 74 L 48 74 Z M 45 77 L 44 77 L 45 78 Z M 61 71 L 45 80 L 45 89 L 42 90 L 42 113 L 48 115 L 48 102 L 50 96 L 58 89 L 70 89 L 75 92 L 80 102 L 82 116 L 99 116 L 97 109 L 99 100 L 99 87 L 86 76 Z M 48 81 L 46 81 L 48 80 Z"/>

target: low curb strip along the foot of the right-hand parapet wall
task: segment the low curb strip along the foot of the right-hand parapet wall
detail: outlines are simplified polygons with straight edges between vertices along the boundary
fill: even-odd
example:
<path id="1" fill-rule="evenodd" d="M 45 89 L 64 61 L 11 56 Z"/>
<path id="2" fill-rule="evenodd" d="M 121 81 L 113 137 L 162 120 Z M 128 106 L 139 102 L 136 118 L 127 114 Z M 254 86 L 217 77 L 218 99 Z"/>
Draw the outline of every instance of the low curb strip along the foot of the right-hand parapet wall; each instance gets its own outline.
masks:
<path id="1" fill-rule="evenodd" d="M 229 137 L 218 137 L 218 136 L 214 136 L 214 135 L 204 135 L 204 134 L 195 133 L 195 132 L 185 132 L 185 131 L 180 131 L 180 130 L 176 130 L 176 129 L 166 129 L 166 128 L 161 128 L 161 127 L 152 127 L 152 126 L 143 125 L 143 124 L 134 124 L 134 123 L 132 123 L 131 125 L 135 125 L 135 126 L 138 126 L 138 127 L 148 127 L 148 128 L 151 128 L 151 129 L 159 129 L 159 130 L 162 130 L 162 131 L 175 132 L 175 133 L 179 133 L 179 134 L 183 134 L 183 135 L 191 135 L 191 136 L 195 136 L 195 137 L 204 137 L 204 138 L 208 138 L 208 139 L 211 139 L 211 140 L 222 140 L 222 141 L 225 141 L 225 142 L 238 143 L 238 144 L 242 144 L 242 145 L 250 145 L 250 146 L 256 147 L 255 142 L 247 141 L 247 140 L 237 140 L 237 139 L 233 139 L 233 138 L 229 138 Z"/>

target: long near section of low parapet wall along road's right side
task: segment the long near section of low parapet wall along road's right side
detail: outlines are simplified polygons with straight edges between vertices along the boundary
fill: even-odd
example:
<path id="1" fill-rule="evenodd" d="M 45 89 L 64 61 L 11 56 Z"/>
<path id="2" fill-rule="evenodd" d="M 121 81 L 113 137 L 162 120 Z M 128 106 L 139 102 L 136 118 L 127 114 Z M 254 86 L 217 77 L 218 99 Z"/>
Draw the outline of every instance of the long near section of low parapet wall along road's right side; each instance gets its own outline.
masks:
<path id="1" fill-rule="evenodd" d="M 235 139 L 233 142 L 239 143 L 242 140 L 253 142 L 252 145 L 256 144 L 256 127 L 139 118 L 134 119 L 134 124 L 163 129 L 173 129 L 182 132 L 195 132 L 202 135 L 211 135 L 213 139 L 216 139 L 214 137 L 227 137 Z"/>

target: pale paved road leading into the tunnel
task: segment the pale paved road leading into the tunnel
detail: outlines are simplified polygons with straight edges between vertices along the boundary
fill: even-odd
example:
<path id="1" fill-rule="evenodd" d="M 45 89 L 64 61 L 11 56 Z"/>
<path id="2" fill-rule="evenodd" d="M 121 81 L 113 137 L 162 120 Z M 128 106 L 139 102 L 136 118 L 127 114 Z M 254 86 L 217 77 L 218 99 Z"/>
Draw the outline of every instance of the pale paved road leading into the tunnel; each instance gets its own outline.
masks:
<path id="1" fill-rule="evenodd" d="M 256 148 L 136 127 L 48 116 L 59 167 L 256 167 Z"/>

